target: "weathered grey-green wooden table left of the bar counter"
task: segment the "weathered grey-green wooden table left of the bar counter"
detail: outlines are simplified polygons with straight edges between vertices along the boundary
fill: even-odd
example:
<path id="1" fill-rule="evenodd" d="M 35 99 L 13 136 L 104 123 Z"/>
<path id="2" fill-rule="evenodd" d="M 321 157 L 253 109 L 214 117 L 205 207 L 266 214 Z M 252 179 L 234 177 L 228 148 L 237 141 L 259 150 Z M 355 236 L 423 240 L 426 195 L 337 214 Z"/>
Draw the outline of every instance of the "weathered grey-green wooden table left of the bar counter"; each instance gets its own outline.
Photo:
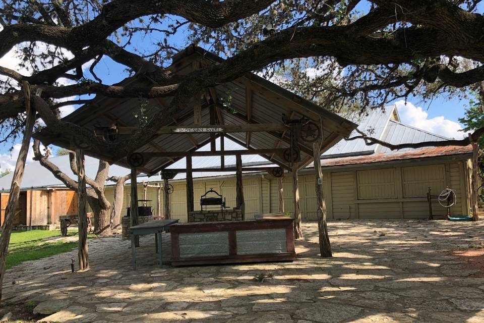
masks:
<path id="1" fill-rule="evenodd" d="M 161 251 L 161 233 L 168 232 L 172 224 L 177 223 L 178 220 L 155 220 L 146 222 L 130 228 L 131 232 L 131 261 L 133 263 L 133 270 L 136 270 L 136 246 L 135 237 L 144 234 L 155 234 L 155 249 L 158 255 L 160 266 L 163 264 L 163 255 Z"/>

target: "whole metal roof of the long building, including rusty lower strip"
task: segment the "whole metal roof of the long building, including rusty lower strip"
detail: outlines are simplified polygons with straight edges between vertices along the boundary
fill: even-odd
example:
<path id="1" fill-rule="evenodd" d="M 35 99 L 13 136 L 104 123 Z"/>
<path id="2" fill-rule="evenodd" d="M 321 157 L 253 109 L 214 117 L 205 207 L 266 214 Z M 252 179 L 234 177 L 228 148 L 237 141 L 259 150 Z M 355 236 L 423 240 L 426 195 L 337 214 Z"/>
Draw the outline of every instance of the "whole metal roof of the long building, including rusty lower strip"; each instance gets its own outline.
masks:
<path id="1" fill-rule="evenodd" d="M 384 141 L 389 141 L 393 144 L 405 142 L 420 142 L 428 140 L 445 140 L 443 136 L 429 133 L 425 130 L 417 129 L 404 125 L 399 122 L 398 111 L 394 106 L 388 106 L 385 112 L 373 111 L 369 116 L 361 120 L 360 129 L 366 131 L 369 127 L 373 127 L 375 132 L 372 136 L 379 136 Z M 357 135 L 355 132 L 352 135 Z M 247 149 L 229 139 L 225 139 L 225 148 L 227 150 Z M 348 144 L 351 143 L 351 144 Z M 217 140 L 217 149 L 219 148 L 219 140 Z M 368 147 L 368 148 L 367 148 Z M 209 150 L 210 145 L 207 144 L 198 150 Z M 370 150 L 368 150 L 370 149 Z M 328 153 L 331 152 L 331 155 Z M 427 147 L 421 149 L 402 149 L 400 151 L 390 151 L 386 147 L 380 145 L 366 146 L 362 140 L 358 141 L 341 141 L 335 147 L 328 150 L 328 153 L 322 155 L 322 167 L 339 167 L 349 165 L 362 165 L 371 163 L 386 163 L 390 161 L 407 160 L 414 158 L 427 158 L 439 156 L 459 156 L 460 159 L 468 158 L 472 154 L 470 146 L 447 146 L 447 147 Z M 275 166 L 268 164 L 268 161 L 259 155 L 243 155 L 242 161 L 244 166 Z M 69 166 L 69 156 L 57 156 L 50 159 L 63 172 L 77 180 L 77 176 L 71 172 Z M 233 156 L 225 156 L 225 166 L 235 164 Z M 193 168 L 210 168 L 220 166 L 220 157 L 193 157 Z M 93 178 L 96 174 L 99 161 L 95 158 L 86 156 L 86 173 L 87 176 Z M 178 160 L 169 168 L 184 168 L 185 158 Z M 308 166 L 313 167 L 312 164 Z M 109 169 L 109 176 L 122 176 L 130 173 L 128 168 L 112 165 Z M 193 178 L 215 177 L 232 175 L 233 172 L 194 172 Z M 10 189 L 13 174 L 0 178 L 0 190 Z M 174 180 L 184 179 L 185 174 L 177 174 Z M 158 181 L 158 176 L 138 177 L 138 182 L 151 180 Z M 127 181 L 127 184 L 130 182 Z M 108 183 L 112 184 L 112 183 Z M 21 184 L 22 189 L 29 189 L 31 187 L 63 187 L 63 183 L 57 180 L 53 175 L 43 168 L 37 161 L 28 163 L 25 166 L 25 175 Z"/>

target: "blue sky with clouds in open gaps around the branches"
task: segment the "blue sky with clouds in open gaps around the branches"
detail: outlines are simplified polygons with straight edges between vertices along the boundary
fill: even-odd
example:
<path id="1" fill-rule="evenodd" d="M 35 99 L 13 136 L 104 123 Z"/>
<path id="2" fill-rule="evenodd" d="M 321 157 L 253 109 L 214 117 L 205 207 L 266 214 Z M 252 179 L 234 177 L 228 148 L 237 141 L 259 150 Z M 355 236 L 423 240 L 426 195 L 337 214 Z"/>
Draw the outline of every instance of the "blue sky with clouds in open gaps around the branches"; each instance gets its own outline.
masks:
<path id="1" fill-rule="evenodd" d="M 358 7 L 361 11 L 368 9 L 367 4 L 362 4 Z M 484 9 L 484 5 L 478 8 L 478 12 L 481 13 Z M 187 35 L 182 31 L 174 39 L 180 47 L 183 47 L 186 43 Z M 150 44 L 160 41 L 161 37 L 158 35 L 148 34 L 146 37 L 135 36 L 132 40 L 131 48 L 149 48 Z M 10 52 L 4 58 L 0 59 L 0 64 L 16 68 L 16 60 L 13 52 Z M 88 71 L 88 65 L 84 69 L 86 77 L 90 78 Z M 97 65 L 95 71 L 98 77 L 103 80 L 104 84 L 113 84 L 121 81 L 127 76 L 124 72 L 125 67 L 119 65 L 109 58 L 103 58 Z M 458 118 L 464 116 L 464 109 L 468 106 L 468 100 L 452 99 L 448 100 L 446 97 L 441 96 L 434 99 L 432 102 L 421 103 L 421 98 L 411 97 L 408 99 L 405 105 L 402 100 L 396 102 L 399 109 L 399 113 L 403 123 L 422 128 L 430 132 L 435 132 L 446 137 L 455 137 L 461 133 L 458 132 L 460 125 L 458 124 Z M 64 114 L 74 111 L 76 107 L 66 107 Z M 12 168 L 15 165 L 15 159 L 18 154 L 19 144 L 14 143 L 14 150 L 12 153 L 9 149 L 12 147 L 12 143 L 0 145 L 0 170 L 5 168 Z M 17 149 L 16 149 L 17 147 Z M 29 156 L 30 159 L 31 155 Z"/>

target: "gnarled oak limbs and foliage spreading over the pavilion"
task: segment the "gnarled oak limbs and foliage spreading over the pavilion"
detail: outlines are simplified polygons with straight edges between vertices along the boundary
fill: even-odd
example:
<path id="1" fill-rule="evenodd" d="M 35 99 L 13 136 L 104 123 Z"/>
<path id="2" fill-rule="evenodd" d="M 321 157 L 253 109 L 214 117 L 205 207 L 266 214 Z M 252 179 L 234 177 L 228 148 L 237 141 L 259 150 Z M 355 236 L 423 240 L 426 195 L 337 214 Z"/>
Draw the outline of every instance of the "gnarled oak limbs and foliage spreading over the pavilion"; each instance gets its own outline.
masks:
<path id="1" fill-rule="evenodd" d="M 94 153 L 107 151 L 114 159 L 148 142 L 196 93 L 250 71 L 279 78 L 337 112 L 408 95 L 463 95 L 484 81 L 479 2 L 3 0 L 0 57 L 20 46 L 30 73 L 0 66 L 2 130 L 15 136 L 23 128 L 22 81 L 38 94 L 32 107 L 52 134 L 89 142 Z M 40 43 L 48 46 L 39 50 Z M 226 61 L 183 76 L 167 71 L 170 57 L 190 43 Z M 96 71 L 104 59 L 155 85 L 103 83 Z M 63 105 L 89 103 L 87 94 L 172 100 L 129 140 L 106 142 L 56 113 Z M 454 144 L 469 144 L 482 131 Z"/>

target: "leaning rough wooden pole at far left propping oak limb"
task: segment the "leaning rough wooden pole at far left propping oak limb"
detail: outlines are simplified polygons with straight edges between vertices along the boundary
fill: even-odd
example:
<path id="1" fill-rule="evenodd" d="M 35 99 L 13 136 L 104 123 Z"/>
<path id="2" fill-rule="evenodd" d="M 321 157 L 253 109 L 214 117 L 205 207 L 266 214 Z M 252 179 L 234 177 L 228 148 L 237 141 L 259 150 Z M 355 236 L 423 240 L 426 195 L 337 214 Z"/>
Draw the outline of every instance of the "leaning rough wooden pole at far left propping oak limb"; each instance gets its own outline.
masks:
<path id="1" fill-rule="evenodd" d="M 35 111 L 30 106 L 30 87 L 28 82 L 22 82 L 25 95 L 25 109 L 27 112 L 27 121 L 24 130 L 24 138 L 20 147 L 17 164 L 15 165 L 14 177 L 10 186 L 9 201 L 5 210 L 5 220 L 2 227 L 2 236 L 0 236 L 0 303 L 2 302 L 2 284 L 5 277 L 5 262 L 9 252 L 10 235 L 12 234 L 12 223 L 14 221 L 15 209 L 17 208 L 20 184 L 24 176 L 25 161 L 29 151 L 30 138 L 35 124 Z"/>

